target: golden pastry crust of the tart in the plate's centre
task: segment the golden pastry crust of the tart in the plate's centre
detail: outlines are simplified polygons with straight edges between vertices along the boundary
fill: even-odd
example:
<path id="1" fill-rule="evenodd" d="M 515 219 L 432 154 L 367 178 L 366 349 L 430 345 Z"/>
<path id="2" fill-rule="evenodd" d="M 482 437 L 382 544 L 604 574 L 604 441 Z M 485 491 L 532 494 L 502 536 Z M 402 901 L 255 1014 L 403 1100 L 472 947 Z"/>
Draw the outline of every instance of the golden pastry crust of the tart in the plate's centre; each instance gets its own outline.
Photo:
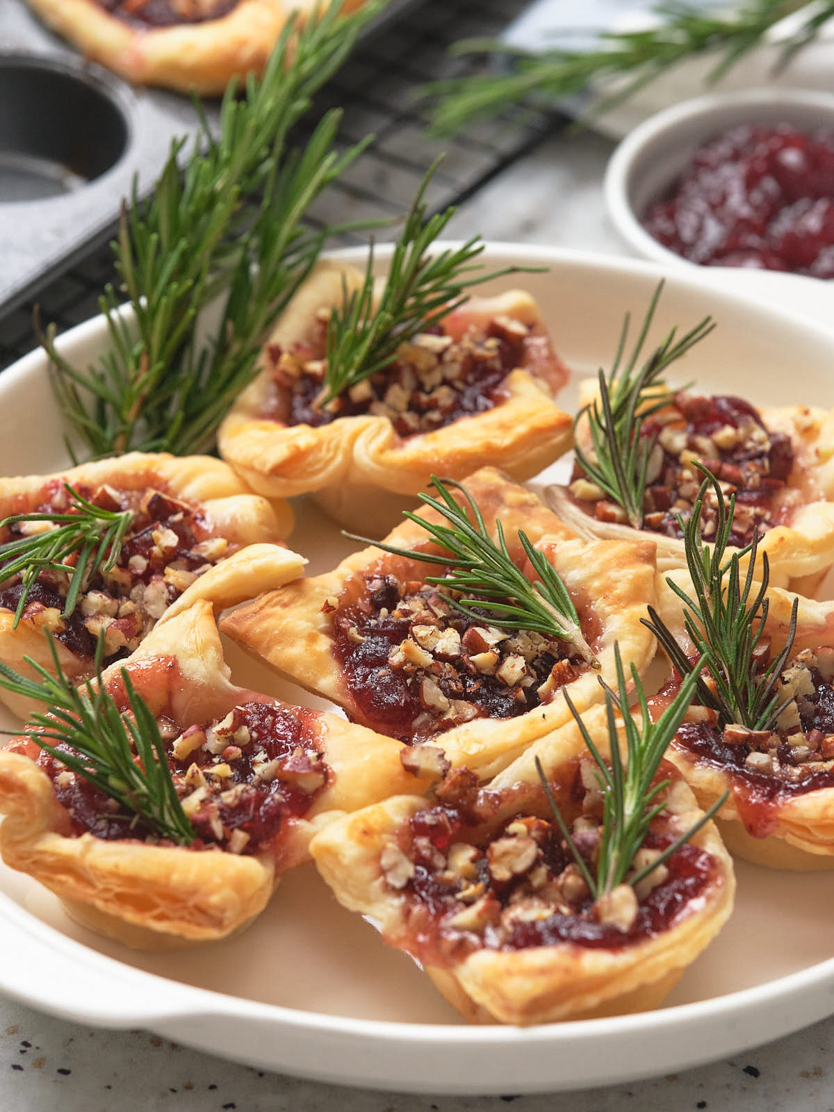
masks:
<path id="1" fill-rule="evenodd" d="M 582 711 L 603 697 L 598 677 L 615 682 L 614 644 L 623 659 L 642 672 L 654 654 L 654 638 L 641 624 L 654 593 L 654 546 L 633 542 L 578 540 L 529 490 L 486 467 L 466 479 L 485 524 L 495 530 L 496 518 L 507 537 L 523 528 L 530 542 L 547 552 L 568 590 L 586 600 L 599 624 L 595 652 L 599 671 L 586 671 L 565 686 Z M 420 516 L 439 520 L 434 510 Z M 405 548 L 425 545 L 426 534 L 404 522 L 386 538 Z M 262 657 L 282 675 L 308 691 L 346 708 L 361 721 L 341 667 L 334 653 L 332 624 L 322 613 L 327 599 L 338 598 L 364 572 L 383 569 L 397 578 L 423 579 L 427 565 L 385 554 L 378 548 L 354 553 L 327 575 L 299 580 L 271 590 L 228 615 L 222 632 L 245 649 Z M 437 736 L 455 764 L 465 764 L 486 778 L 505 767 L 542 734 L 560 726 L 570 713 L 563 689 L 555 697 L 514 718 L 476 718 Z"/>

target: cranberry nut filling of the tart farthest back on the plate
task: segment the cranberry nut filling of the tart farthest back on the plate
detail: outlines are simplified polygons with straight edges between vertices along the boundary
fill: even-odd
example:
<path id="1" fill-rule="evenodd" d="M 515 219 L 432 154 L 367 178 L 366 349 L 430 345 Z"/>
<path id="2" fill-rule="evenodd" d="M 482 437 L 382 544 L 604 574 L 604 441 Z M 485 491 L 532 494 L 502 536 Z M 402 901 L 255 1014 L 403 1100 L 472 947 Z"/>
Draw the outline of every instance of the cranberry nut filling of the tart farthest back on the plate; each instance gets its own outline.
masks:
<path id="1" fill-rule="evenodd" d="M 540 339 L 527 325 L 506 316 L 495 317 L 486 329 L 473 327 L 459 339 L 437 325 L 401 344 L 389 366 L 320 407 L 316 398 L 325 371 L 326 317 L 319 327 L 320 338 L 312 346 L 267 348 L 277 388 L 264 417 L 317 426 L 337 417 L 373 414 L 388 417 L 403 437 L 429 433 L 502 403 L 505 378 L 534 360 Z"/>

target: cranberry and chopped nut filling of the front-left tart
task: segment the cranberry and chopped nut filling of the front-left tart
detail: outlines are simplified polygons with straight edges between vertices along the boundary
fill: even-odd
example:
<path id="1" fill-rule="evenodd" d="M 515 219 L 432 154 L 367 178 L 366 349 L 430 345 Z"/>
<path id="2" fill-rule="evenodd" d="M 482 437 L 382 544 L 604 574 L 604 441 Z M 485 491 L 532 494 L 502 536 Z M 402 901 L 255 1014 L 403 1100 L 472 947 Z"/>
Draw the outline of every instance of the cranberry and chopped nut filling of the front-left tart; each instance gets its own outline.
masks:
<path id="1" fill-rule="evenodd" d="M 279 833 L 285 820 L 308 811 L 328 778 L 316 748 L 311 712 L 271 703 L 244 703 L 219 722 L 179 733 L 160 722 L 169 744 L 177 794 L 197 834 L 192 848 L 218 847 L 257 853 Z M 67 746 L 60 749 L 71 752 Z M 38 763 L 52 780 L 75 834 L 108 841 L 156 841 L 148 826 L 120 811 L 118 803 L 41 752 Z"/>

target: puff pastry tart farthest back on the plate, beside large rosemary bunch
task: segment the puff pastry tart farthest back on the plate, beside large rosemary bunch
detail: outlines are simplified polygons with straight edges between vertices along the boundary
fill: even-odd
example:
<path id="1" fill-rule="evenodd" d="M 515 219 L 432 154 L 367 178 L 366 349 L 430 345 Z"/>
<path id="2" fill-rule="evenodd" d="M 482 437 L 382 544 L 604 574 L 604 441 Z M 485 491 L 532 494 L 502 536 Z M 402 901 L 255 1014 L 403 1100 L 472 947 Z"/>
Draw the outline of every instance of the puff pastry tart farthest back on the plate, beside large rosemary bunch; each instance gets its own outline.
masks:
<path id="1" fill-rule="evenodd" d="M 268 497 L 312 492 L 351 528 L 381 535 L 433 474 L 463 478 L 485 464 L 516 479 L 570 445 L 553 400 L 567 379 L 533 298 L 470 298 L 398 350 L 394 364 L 324 408 L 327 320 L 361 286 L 322 262 L 278 321 L 264 369 L 220 427 L 220 455 Z"/>

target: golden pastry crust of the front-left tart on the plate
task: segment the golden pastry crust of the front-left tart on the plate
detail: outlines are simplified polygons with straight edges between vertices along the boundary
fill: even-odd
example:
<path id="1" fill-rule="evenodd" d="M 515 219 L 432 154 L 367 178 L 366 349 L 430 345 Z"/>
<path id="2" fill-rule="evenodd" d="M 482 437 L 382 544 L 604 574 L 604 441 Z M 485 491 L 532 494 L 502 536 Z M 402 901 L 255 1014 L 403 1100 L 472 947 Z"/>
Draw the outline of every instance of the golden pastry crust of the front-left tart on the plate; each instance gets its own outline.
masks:
<path id="1" fill-rule="evenodd" d="M 230 683 L 206 600 L 155 627 L 127 662 L 105 672 L 105 683 L 117 682 L 122 667 L 151 709 L 181 728 L 247 699 L 277 703 Z M 404 771 L 398 742 L 334 715 L 305 713 L 331 775 L 304 817 L 287 820 L 276 843 L 257 854 L 69 836 L 69 816 L 32 759 L 37 747 L 17 741 L 12 751 L 0 751 L 3 861 L 54 892 L 79 922 L 127 945 L 168 949 L 225 937 L 262 911 L 282 873 L 309 860 L 311 836 L 334 817 L 425 786 Z"/>

